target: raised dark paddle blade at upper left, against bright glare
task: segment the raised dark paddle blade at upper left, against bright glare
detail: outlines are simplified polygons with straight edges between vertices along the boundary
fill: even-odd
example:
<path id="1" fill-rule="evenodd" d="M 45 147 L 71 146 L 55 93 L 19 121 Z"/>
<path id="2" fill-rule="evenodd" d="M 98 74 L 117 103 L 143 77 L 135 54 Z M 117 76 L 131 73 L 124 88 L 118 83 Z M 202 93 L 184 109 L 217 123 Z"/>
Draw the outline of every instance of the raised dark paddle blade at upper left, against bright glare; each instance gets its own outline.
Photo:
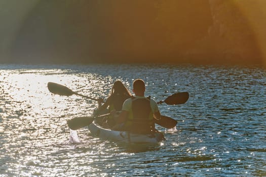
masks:
<path id="1" fill-rule="evenodd" d="M 51 93 L 56 95 L 70 96 L 74 94 L 74 92 L 68 89 L 66 86 L 60 85 L 58 83 L 48 82 L 47 87 Z"/>

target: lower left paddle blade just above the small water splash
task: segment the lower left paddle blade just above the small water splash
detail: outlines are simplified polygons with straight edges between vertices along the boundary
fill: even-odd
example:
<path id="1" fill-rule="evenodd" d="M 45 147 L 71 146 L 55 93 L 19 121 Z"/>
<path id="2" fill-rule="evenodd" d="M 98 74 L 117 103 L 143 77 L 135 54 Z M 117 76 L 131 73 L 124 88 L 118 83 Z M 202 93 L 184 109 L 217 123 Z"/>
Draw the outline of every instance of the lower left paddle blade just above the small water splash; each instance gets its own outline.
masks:
<path id="1" fill-rule="evenodd" d="M 82 127 L 88 126 L 94 120 L 94 117 L 75 117 L 67 120 L 67 125 L 72 130 L 77 130 Z"/>

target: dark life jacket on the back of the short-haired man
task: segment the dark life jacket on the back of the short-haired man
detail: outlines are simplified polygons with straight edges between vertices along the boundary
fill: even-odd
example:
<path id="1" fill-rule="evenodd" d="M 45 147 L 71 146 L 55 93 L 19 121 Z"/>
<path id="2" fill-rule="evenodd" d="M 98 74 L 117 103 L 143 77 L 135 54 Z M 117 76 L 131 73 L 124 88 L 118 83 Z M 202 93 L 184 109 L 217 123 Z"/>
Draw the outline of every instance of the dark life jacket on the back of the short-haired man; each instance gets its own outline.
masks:
<path id="1" fill-rule="evenodd" d="M 155 132 L 150 97 L 132 98 L 132 106 L 126 121 L 126 127 L 130 132 L 136 134 L 153 134 Z"/>

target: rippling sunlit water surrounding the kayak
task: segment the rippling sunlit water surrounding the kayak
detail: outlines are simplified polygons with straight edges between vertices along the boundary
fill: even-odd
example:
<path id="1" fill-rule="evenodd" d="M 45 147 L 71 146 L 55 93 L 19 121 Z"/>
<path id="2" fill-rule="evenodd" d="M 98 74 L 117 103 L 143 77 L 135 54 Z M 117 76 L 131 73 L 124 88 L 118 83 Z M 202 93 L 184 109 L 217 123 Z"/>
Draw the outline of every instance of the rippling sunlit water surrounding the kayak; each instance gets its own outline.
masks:
<path id="1" fill-rule="evenodd" d="M 189 92 L 159 105 L 178 120 L 158 147 L 129 147 L 71 132 L 66 120 L 96 102 L 58 96 L 49 81 L 93 98 L 111 84 L 146 81 L 146 96 Z M 266 176 L 266 72 L 256 66 L 0 65 L 0 176 Z"/>

